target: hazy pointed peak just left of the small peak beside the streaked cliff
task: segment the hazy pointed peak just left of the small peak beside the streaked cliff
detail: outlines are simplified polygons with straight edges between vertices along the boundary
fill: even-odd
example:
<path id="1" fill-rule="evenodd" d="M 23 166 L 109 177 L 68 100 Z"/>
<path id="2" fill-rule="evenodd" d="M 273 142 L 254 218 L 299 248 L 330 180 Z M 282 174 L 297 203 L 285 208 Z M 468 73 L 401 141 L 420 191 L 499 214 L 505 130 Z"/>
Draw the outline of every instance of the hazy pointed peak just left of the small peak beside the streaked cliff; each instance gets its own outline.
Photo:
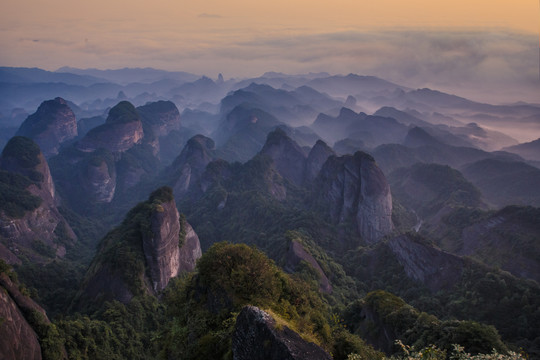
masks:
<path id="1" fill-rule="evenodd" d="M 272 158 L 277 171 L 285 179 L 296 185 L 304 182 L 306 155 L 282 129 L 277 128 L 268 134 L 260 154 Z"/>

